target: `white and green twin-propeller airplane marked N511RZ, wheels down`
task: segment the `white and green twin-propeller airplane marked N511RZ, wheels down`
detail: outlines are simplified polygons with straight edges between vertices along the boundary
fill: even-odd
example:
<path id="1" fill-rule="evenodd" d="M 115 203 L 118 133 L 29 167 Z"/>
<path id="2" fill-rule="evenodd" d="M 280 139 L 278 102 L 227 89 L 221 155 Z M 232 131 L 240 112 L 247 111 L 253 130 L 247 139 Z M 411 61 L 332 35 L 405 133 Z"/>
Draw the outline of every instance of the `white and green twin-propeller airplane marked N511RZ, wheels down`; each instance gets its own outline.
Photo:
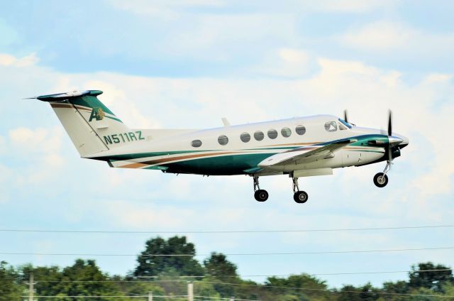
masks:
<path id="1" fill-rule="evenodd" d="M 386 161 L 373 177 L 377 187 L 388 183 L 394 158 L 409 139 L 392 132 L 362 128 L 332 115 L 316 115 L 209 129 L 128 128 L 98 96 L 100 90 L 48 94 L 31 99 L 48 102 L 82 158 L 101 160 L 111 168 L 161 170 L 196 175 L 250 175 L 254 197 L 268 199 L 259 177 L 288 175 L 294 201 L 309 196 L 299 177 L 332 175 L 334 168 Z"/>

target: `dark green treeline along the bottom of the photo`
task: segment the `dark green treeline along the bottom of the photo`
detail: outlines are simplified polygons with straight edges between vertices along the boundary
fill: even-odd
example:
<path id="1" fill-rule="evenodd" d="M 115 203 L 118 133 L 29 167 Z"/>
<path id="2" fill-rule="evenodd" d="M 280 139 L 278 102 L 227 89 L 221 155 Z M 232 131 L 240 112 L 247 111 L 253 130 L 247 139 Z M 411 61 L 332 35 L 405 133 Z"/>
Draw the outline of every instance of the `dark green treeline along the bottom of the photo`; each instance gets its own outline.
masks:
<path id="1" fill-rule="evenodd" d="M 148 256 L 148 254 L 190 254 L 190 256 Z M 186 237 L 170 239 L 157 237 L 145 243 L 145 250 L 137 258 L 138 264 L 128 275 L 103 273 L 93 260 L 77 259 L 72 266 L 34 267 L 31 265 L 14 268 L 0 263 L 0 300 L 23 300 L 27 295 L 28 278 L 33 273 L 35 295 L 60 296 L 52 300 L 148 300 L 152 291 L 156 300 L 187 300 L 187 281 L 194 283 L 197 300 L 221 300 L 236 297 L 248 300 L 338 300 L 338 301 L 407 301 L 407 300 L 454 300 L 453 271 L 442 265 L 419 263 L 411 267 L 408 280 L 383 283 L 375 288 L 370 283 L 356 287 L 344 285 L 341 289 L 328 288 L 319 278 L 301 273 L 288 278 L 269 277 L 264 284 L 243 280 L 235 264 L 222 253 L 211 253 L 202 263 L 194 258 L 193 243 Z M 182 278 L 181 276 L 193 276 Z M 77 298 L 65 296 L 124 296 Z M 35 300 L 50 300 L 35 297 Z"/>

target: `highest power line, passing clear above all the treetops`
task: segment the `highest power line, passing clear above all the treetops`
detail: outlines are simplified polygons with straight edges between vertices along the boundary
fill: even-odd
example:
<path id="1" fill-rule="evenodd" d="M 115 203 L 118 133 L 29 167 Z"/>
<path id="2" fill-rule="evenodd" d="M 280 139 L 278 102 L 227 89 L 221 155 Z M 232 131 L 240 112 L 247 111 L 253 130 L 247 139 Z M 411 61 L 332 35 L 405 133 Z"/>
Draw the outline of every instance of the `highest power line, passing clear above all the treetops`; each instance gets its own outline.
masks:
<path id="1" fill-rule="evenodd" d="M 219 230 L 219 231 L 126 231 L 126 230 L 55 230 L 55 229 L 0 229 L 0 232 L 23 233 L 79 233 L 79 234 L 240 234 L 240 233 L 292 233 L 292 232 L 336 232 L 336 231 L 375 231 L 402 229 L 452 228 L 454 225 L 426 226 L 387 226 L 370 228 L 338 228 L 338 229 L 277 229 L 277 230 Z"/>

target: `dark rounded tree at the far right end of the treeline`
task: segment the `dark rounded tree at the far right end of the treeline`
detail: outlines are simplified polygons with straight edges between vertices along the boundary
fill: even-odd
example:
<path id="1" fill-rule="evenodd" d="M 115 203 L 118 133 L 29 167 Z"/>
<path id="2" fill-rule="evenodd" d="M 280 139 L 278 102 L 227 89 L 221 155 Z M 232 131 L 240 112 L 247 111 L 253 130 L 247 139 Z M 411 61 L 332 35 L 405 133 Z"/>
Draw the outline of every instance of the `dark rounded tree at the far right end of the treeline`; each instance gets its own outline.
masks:
<path id="1" fill-rule="evenodd" d="M 420 272 L 421 270 L 430 271 Z M 418 263 L 417 268 L 412 266 L 409 278 L 410 288 L 429 288 L 436 292 L 443 292 L 443 285 L 454 281 L 452 269 L 431 262 Z"/>

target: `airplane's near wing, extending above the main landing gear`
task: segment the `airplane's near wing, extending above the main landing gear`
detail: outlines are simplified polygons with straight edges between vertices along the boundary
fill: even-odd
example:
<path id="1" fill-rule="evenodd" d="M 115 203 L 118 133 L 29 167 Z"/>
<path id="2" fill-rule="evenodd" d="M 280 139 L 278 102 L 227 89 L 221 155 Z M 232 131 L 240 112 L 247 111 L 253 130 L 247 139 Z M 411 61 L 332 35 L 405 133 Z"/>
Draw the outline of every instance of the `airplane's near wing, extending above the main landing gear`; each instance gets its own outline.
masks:
<path id="1" fill-rule="evenodd" d="M 284 153 L 277 153 L 269 158 L 266 158 L 258 164 L 260 168 L 267 168 L 272 165 L 287 165 L 299 161 L 299 163 L 310 163 L 319 158 L 331 158 L 334 156 L 334 152 L 348 146 L 350 143 L 358 141 L 357 139 L 343 139 L 332 141 L 324 146 L 304 146 L 301 148 L 295 148 L 291 151 Z"/>

